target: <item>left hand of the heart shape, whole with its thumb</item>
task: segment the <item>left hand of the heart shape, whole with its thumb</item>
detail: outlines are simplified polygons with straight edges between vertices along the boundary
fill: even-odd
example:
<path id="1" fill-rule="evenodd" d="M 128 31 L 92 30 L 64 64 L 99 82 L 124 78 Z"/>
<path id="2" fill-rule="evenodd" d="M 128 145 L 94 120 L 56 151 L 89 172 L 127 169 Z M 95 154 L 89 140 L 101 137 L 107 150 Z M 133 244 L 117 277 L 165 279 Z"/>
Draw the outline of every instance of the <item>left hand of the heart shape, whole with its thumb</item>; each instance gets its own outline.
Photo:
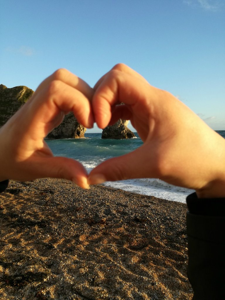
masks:
<path id="1" fill-rule="evenodd" d="M 67 70 L 57 70 L 45 79 L 31 99 L 0 129 L 0 181 L 55 177 L 88 187 L 82 164 L 53 157 L 44 138 L 70 111 L 85 127 L 93 127 L 92 95 L 88 84 Z"/>

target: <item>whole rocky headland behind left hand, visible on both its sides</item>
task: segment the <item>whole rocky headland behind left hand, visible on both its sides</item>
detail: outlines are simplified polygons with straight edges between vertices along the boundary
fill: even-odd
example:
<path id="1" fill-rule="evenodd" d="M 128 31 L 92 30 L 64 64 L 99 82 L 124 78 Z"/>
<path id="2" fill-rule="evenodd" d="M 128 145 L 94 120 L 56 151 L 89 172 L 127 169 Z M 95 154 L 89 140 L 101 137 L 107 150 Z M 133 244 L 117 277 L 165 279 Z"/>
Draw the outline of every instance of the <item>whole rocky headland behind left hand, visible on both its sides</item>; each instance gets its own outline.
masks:
<path id="1" fill-rule="evenodd" d="M 34 91 L 26 86 L 15 86 L 7 88 L 0 85 L 0 127 L 16 113 L 33 95 Z M 69 139 L 84 137 L 86 128 L 77 122 L 73 113 L 64 117 L 63 122 L 47 136 L 49 139 Z"/>

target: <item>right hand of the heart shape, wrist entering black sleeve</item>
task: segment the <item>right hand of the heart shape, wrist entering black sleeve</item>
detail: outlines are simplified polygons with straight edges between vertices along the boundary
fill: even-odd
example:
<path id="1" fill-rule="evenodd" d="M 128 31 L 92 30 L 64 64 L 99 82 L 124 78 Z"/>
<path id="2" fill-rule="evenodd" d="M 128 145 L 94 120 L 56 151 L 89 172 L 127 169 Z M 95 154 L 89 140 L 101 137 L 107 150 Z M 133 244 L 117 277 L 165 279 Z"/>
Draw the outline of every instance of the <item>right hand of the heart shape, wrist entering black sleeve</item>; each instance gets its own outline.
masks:
<path id="1" fill-rule="evenodd" d="M 129 119 L 144 144 L 98 165 L 89 184 L 151 177 L 195 189 L 199 197 L 224 196 L 225 140 L 182 102 L 124 64 L 113 67 L 94 90 L 98 126 Z"/>

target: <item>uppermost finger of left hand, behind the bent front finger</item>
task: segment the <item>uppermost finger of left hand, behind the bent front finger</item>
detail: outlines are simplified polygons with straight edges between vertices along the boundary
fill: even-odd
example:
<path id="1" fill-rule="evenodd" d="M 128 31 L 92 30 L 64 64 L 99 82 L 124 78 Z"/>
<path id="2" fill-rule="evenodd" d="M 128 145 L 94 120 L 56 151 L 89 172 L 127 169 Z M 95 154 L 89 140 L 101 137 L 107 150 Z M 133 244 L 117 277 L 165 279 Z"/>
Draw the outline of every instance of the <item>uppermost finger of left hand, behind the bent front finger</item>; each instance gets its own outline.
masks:
<path id="1" fill-rule="evenodd" d="M 36 91 L 39 91 L 42 88 L 48 86 L 52 81 L 59 80 L 65 84 L 76 88 L 78 91 L 83 93 L 89 100 L 91 100 L 94 91 L 93 89 L 81 78 L 77 77 L 70 71 L 66 69 L 58 69 L 52 75 L 47 77 L 37 88 Z"/>

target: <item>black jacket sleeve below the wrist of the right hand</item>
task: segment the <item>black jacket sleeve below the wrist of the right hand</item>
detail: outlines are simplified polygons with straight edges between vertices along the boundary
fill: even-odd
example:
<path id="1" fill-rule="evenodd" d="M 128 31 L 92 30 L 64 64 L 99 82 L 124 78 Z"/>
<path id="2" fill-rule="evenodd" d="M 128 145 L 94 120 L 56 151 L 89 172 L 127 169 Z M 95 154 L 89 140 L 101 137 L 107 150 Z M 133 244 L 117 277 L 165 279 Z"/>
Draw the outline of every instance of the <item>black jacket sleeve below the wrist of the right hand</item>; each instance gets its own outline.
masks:
<path id="1" fill-rule="evenodd" d="M 188 278 L 194 300 L 225 299 L 225 198 L 187 197 Z"/>

